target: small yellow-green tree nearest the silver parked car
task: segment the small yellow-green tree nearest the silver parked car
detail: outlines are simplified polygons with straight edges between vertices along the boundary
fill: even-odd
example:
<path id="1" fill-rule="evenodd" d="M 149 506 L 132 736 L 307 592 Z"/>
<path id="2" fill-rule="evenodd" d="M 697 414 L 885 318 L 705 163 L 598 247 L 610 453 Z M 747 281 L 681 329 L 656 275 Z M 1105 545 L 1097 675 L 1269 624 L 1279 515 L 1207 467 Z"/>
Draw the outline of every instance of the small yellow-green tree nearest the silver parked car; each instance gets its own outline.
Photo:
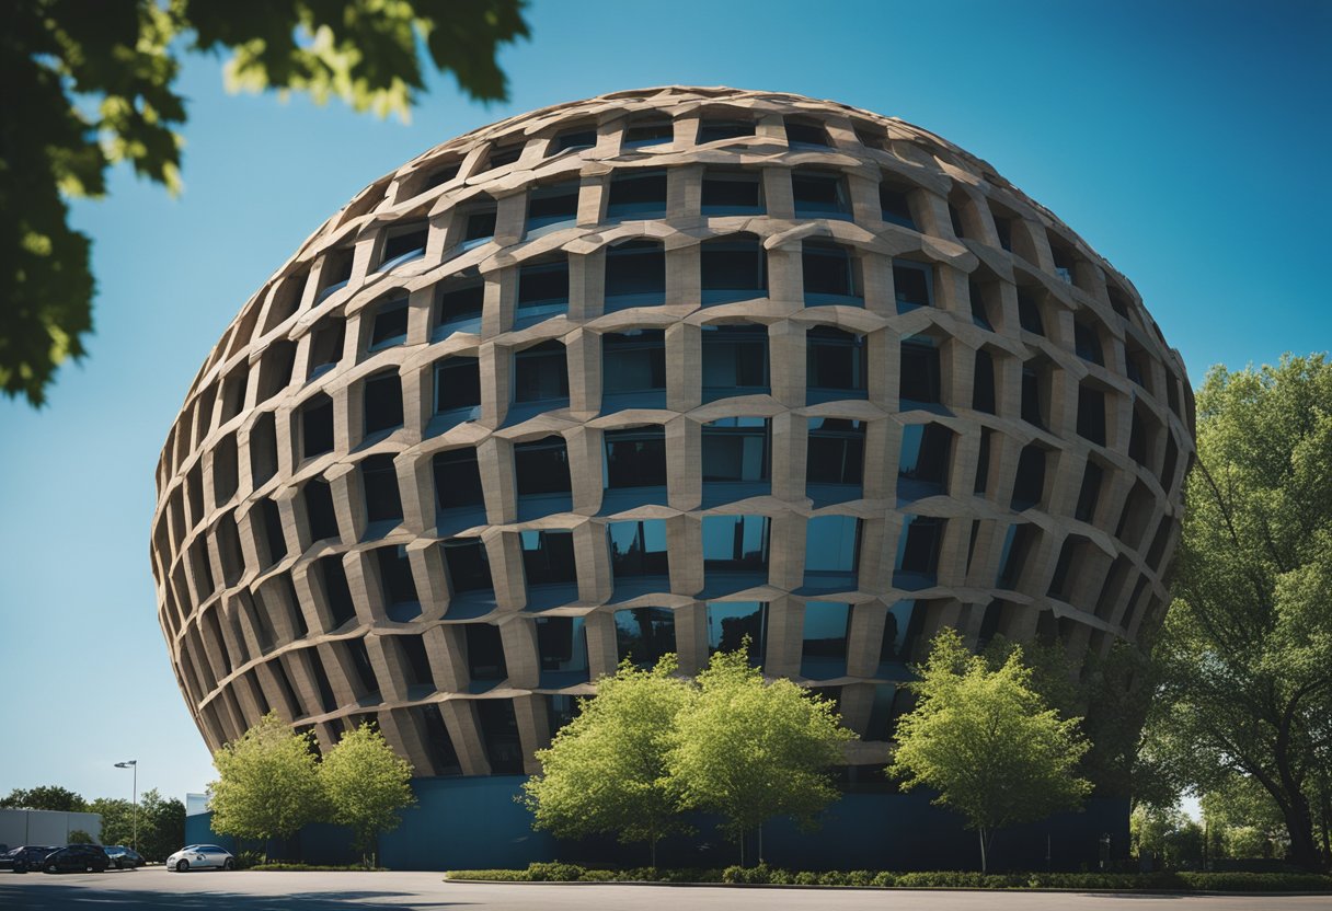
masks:
<path id="1" fill-rule="evenodd" d="M 269 713 L 213 754 L 217 780 L 208 786 L 212 827 L 237 839 L 290 838 L 324 818 L 314 735 L 296 734 Z"/>

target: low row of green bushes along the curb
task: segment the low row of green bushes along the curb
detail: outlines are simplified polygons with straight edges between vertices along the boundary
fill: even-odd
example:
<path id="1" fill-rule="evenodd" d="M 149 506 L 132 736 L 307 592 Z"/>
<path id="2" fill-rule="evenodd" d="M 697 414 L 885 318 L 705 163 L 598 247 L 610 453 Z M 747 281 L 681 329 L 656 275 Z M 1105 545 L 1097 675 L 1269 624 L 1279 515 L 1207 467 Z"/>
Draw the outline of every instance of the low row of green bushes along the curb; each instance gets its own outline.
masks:
<path id="1" fill-rule="evenodd" d="M 526 870 L 453 870 L 449 879 L 489 879 L 523 883 L 742 883 L 749 886 L 850 886 L 895 888 L 1112 888 L 1187 890 L 1199 892 L 1320 892 L 1332 891 L 1332 876 L 1255 872 L 894 872 L 891 870 L 790 871 L 767 864 L 725 870 L 599 870 L 575 863 L 533 863 Z"/>

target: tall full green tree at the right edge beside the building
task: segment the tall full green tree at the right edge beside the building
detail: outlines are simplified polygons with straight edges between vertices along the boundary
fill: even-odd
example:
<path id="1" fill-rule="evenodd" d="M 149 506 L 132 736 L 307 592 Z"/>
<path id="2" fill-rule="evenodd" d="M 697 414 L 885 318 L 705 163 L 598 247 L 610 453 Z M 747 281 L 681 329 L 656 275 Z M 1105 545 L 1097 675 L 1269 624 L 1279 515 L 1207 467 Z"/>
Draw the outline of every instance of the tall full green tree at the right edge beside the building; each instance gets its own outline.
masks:
<path id="1" fill-rule="evenodd" d="M 1197 394 L 1175 601 L 1147 750 L 1175 783 L 1249 775 L 1317 870 L 1332 758 L 1332 365 L 1213 368 Z"/>

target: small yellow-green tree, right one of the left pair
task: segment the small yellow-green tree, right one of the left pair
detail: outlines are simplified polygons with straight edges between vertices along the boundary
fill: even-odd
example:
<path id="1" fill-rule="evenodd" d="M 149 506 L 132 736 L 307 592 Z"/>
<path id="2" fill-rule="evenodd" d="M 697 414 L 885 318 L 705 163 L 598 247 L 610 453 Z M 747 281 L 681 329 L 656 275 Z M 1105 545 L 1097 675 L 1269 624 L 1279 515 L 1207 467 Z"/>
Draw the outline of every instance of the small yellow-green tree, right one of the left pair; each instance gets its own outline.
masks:
<path id="1" fill-rule="evenodd" d="M 333 822 L 352 828 L 353 846 L 374 866 L 376 839 L 402 822 L 398 810 L 416 803 L 412 763 L 400 758 L 369 723 L 348 731 L 320 763 L 320 782 Z M 366 858 L 369 852 L 369 858 Z"/>

